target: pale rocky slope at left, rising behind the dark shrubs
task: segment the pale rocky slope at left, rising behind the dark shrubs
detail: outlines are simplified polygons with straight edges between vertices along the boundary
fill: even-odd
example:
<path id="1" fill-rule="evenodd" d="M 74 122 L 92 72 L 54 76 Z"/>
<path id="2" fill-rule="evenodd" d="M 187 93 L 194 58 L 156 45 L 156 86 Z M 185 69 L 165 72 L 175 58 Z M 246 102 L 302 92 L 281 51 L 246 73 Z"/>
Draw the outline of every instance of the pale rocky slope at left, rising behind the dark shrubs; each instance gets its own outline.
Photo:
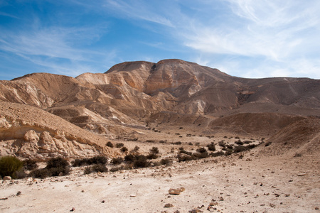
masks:
<path id="1" fill-rule="evenodd" d="M 105 146 L 105 138 L 42 109 L 0 102 L 0 111 L 0 155 L 44 160 L 55 156 L 116 154 Z"/>

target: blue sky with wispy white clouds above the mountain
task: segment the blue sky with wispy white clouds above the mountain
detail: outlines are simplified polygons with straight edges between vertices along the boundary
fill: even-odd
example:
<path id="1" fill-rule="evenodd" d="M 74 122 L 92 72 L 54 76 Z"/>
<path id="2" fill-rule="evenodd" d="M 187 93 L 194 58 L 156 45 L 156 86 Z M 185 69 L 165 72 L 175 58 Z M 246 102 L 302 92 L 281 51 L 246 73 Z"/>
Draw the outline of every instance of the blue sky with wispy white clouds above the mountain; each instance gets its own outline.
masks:
<path id="1" fill-rule="evenodd" d="M 0 0 L 0 80 L 178 58 L 320 79 L 319 0 Z"/>

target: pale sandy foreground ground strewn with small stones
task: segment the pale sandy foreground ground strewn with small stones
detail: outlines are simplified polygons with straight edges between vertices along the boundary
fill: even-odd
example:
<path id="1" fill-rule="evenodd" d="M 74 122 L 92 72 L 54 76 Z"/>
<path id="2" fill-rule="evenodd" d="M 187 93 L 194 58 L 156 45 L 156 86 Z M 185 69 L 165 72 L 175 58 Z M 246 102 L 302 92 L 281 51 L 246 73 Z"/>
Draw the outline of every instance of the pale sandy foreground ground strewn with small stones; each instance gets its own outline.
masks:
<path id="1" fill-rule="evenodd" d="M 0 212 L 320 212 L 319 176 L 319 158 L 266 156 L 255 148 L 241 159 L 90 175 L 78 168 L 65 177 L 5 181 Z M 180 187 L 180 195 L 169 195 Z"/>

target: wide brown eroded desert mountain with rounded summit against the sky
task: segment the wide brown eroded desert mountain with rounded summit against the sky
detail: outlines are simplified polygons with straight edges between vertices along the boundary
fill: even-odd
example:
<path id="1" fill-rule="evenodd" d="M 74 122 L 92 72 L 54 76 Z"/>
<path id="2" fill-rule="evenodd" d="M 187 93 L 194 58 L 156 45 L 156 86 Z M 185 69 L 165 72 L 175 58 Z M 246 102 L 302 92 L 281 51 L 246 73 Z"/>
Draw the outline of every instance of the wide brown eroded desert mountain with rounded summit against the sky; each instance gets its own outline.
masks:
<path id="1" fill-rule="evenodd" d="M 183 127 L 270 137 L 294 122 L 320 115 L 320 80 L 245 79 L 183 60 L 123 62 L 105 73 L 75 78 L 33 73 L 0 81 L 0 91 L 1 118 L 9 119 L 4 123 L 13 125 L 14 119 L 6 114 L 9 103 L 4 104 L 12 102 L 108 138 L 136 133 L 150 123 L 163 130 Z M 17 104 L 12 106 L 22 107 Z M 55 124 L 69 125 L 63 122 Z"/>

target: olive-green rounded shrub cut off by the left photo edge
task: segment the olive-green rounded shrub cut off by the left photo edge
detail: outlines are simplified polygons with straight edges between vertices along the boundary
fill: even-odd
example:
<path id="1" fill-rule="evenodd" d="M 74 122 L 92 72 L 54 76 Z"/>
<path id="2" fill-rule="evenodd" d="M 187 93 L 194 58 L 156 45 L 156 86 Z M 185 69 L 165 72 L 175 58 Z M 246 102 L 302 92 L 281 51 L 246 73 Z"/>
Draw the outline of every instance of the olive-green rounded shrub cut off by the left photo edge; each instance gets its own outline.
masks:
<path id="1" fill-rule="evenodd" d="M 4 156 L 0 158 L 0 176 L 11 176 L 16 178 L 16 172 L 21 170 L 23 162 L 15 156 Z"/>

